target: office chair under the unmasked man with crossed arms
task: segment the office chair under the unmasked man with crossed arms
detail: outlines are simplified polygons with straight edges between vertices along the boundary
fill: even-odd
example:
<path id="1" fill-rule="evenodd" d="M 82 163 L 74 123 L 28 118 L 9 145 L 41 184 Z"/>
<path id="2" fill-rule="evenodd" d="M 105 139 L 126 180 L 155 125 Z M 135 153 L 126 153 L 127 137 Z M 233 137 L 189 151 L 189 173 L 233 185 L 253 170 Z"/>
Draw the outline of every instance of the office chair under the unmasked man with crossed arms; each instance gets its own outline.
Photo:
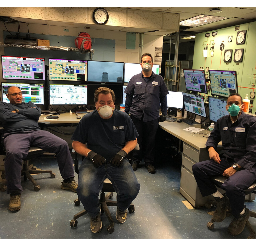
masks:
<path id="1" fill-rule="evenodd" d="M 50 124 L 51 124 L 50 122 L 42 122 L 42 123 L 39 123 L 39 127 L 41 129 L 43 129 L 43 127 L 48 126 Z M 4 128 L 1 127 L 0 130 L 3 133 Z M 3 139 L 3 137 L 2 137 L 2 139 Z M 37 156 L 40 156 L 43 153 L 45 153 L 45 151 L 42 150 L 41 148 L 30 147 L 30 149 L 28 151 L 28 156 L 23 160 L 24 162 L 23 162 L 23 166 L 22 166 L 21 176 L 23 176 L 24 181 L 27 181 L 29 179 L 33 183 L 34 191 L 39 191 L 41 187 L 40 187 L 40 185 L 38 185 L 36 183 L 36 181 L 34 180 L 34 178 L 32 177 L 31 174 L 49 173 L 49 174 L 51 174 L 51 178 L 56 177 L 56 174 L 53 173 L 52 171 L 45 171 L 45 170 L 36 168 L 36 166 L 34 166 L 34 165 L 29 165 L 29 160 L 35 159 Z M 2 155 L 6 154 L 5 150 L 4 150 L 3 141 L 1 141 L 1 154 Z M 1 183 L 0 190 L 2 192 L 5 192 L 7 190 L 6 180 L 5 180 L 5 171 L 2 171 L 1 178 L 3 179 L 3 182 Z"/>

